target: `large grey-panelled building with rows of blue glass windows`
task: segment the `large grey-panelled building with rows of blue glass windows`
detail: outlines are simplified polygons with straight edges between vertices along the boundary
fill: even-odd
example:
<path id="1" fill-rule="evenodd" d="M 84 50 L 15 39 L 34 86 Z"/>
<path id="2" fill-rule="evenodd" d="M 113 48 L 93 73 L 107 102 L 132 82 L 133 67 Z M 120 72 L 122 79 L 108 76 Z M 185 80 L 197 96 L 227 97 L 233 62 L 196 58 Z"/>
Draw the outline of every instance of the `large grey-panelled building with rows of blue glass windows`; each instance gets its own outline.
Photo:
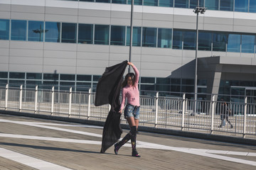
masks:
<path id="1" fill-rule="evenodd" d="M 193 93 L 196 5 L 134 0 L 132 62 L 142 94 Z M 200 6 L 198 93 L 255 96 L 256 1 Z M 131 0 L 0 0 L 0 85 L 95 91 L 105 67 L 129 60 L 130 11 Z"/>

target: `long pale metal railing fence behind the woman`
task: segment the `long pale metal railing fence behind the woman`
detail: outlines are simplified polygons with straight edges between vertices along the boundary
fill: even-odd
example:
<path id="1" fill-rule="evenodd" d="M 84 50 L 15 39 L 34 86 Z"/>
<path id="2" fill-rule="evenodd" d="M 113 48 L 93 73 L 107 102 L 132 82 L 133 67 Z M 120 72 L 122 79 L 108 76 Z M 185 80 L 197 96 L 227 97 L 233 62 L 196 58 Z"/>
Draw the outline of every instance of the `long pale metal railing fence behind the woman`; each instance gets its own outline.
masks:
<path id="1" fill-rule="evenodd" d="M 156 128 L 186 130 L 191 132 L 233 135 L 238 137 L 256 138 L 255 103 L 228 103 L 230 113 L 228 124 L 220 128 L 220 101 L 217 95 L 211 94 L 210 100 L 186 98 L 186 94 L 177 96 L 155 95 L 140 96 L 139 124 Z M 0 87 L 0 109 L 35 114 L 57 115 L 70 118 L 81 118 L 105 121 L 110 111 L 109 105 L 95 106 L 95 93 L 55 91 L 38 89 L 23 89 Z M 195 105 L 196 102 L 196 105 Z M 196 106 L 196 109 L 195 109 Z M 196 112 L 195 112 L 196 110 Z M 229 116 L 228 116 L 229 115 Z M 127 123 L 122 116 L 122 123 Z"/>

